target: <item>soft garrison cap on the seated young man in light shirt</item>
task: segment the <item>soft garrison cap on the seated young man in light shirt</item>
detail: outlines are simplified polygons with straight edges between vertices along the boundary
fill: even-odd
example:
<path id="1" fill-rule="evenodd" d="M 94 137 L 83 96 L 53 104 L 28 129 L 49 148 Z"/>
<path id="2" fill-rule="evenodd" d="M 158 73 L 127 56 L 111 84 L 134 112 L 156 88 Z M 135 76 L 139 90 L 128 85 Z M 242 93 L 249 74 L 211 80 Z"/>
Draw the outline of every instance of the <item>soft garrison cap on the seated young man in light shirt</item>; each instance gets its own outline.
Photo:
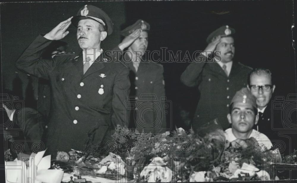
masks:
<path id="1" fill-rule="evenodd" d="M 231 100 L 232 103 L 248 103 L 251 104 L 252 107 L 257 108 L 256 97 L 251 94 L 251 92 L 247 88 L 242 88 Z"/>

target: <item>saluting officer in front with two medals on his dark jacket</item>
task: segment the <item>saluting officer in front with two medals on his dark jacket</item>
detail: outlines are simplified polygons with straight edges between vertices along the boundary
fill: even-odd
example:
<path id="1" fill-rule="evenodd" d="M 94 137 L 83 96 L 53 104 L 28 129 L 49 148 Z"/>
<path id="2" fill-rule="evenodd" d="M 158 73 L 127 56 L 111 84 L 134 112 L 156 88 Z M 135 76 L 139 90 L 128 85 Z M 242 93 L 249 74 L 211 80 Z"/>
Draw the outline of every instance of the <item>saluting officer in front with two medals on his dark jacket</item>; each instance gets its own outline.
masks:
<path id="1" fill-rule="evenodd" d="M 83 51 L 42 59 L 42 51 L 53 40 L 64 38 L 71 23 L 77 27 Z M 83 150 L 88 132 L 94 135 L 94 143 L 104 147 L 114 127 L 124 125 L 129 69 L 115 62 L 116 54 L 110 59 L 101 49 L 101 42 L 112 32 L 109 16 L 98 7 L 85 5 L 77 16 L 39 35 L 16 61 L 19 70 L 50 81 L 51 108 L 43 141 L 47 152 L 54 156 L 57 151 L 68 152 L 71 148 Z M 130 35 L 113 51 L 121 53 L 138 36 Z"/>

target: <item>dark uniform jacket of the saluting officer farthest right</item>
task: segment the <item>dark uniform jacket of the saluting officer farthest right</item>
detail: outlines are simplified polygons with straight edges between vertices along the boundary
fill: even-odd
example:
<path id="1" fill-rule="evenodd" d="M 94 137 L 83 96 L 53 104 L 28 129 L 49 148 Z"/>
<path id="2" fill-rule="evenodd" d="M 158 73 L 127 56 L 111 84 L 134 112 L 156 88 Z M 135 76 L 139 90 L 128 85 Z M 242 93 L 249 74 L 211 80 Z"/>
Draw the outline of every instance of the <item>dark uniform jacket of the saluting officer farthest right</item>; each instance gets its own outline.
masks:
<path id="1" fill-rule="evenodd" d="M 198 56 L 181 75 L 181 82 L 186 86 L 199 85 L 200 98 L 192 121 L 196 131 L 201 124 L 218 119 L 223 129 L 229 127 L 227 114 L 229 104 L 236 91 L 247 86 L 247 78 L 252 68 L 233 61 L 227 76 L 213 60 L 205 62 L 205 56 Z"/>

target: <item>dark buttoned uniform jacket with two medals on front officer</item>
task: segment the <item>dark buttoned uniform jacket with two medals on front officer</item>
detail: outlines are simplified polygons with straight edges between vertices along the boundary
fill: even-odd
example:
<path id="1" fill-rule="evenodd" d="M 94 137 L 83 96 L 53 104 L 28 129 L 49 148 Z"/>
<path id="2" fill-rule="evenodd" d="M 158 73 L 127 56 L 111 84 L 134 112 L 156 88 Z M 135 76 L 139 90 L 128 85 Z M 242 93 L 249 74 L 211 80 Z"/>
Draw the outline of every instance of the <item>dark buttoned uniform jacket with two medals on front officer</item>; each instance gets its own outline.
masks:
<path id="1" fill-rule="evenodd" d="M 83 150 L 90 130 L 95 131 L 94 143 L 110 140 L 114 127 L 124 125 L 129 69 L 102 53 L 83 75 L 82 53 L 42 60 L 41 53 L 50 42 L 39 35 L 16 61 L 18 69 L 50 80 L 51 109 L 44 134 L 48 153 Z"/>

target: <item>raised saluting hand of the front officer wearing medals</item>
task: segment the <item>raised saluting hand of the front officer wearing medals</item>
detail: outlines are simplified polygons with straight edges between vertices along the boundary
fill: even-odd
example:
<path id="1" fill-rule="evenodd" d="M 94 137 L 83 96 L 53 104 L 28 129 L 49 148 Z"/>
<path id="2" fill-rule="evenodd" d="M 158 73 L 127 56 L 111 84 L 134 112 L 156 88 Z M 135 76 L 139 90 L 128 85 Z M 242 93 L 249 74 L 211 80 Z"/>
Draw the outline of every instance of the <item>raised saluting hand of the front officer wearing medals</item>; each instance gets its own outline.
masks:
<path id="1" fill-rule="evenodd" d="M 72 16 L 73 17 L 73 16 Z M 66 29 L 71 24 L 71 18 L 68 18 L 67 20 L 59 23 L 53 30 L 51 30 L 49 33 L 45 34 L 45 38 L 48 40 L 61 40 L 63 39 L 69 31 L 66 31 Z"/>

